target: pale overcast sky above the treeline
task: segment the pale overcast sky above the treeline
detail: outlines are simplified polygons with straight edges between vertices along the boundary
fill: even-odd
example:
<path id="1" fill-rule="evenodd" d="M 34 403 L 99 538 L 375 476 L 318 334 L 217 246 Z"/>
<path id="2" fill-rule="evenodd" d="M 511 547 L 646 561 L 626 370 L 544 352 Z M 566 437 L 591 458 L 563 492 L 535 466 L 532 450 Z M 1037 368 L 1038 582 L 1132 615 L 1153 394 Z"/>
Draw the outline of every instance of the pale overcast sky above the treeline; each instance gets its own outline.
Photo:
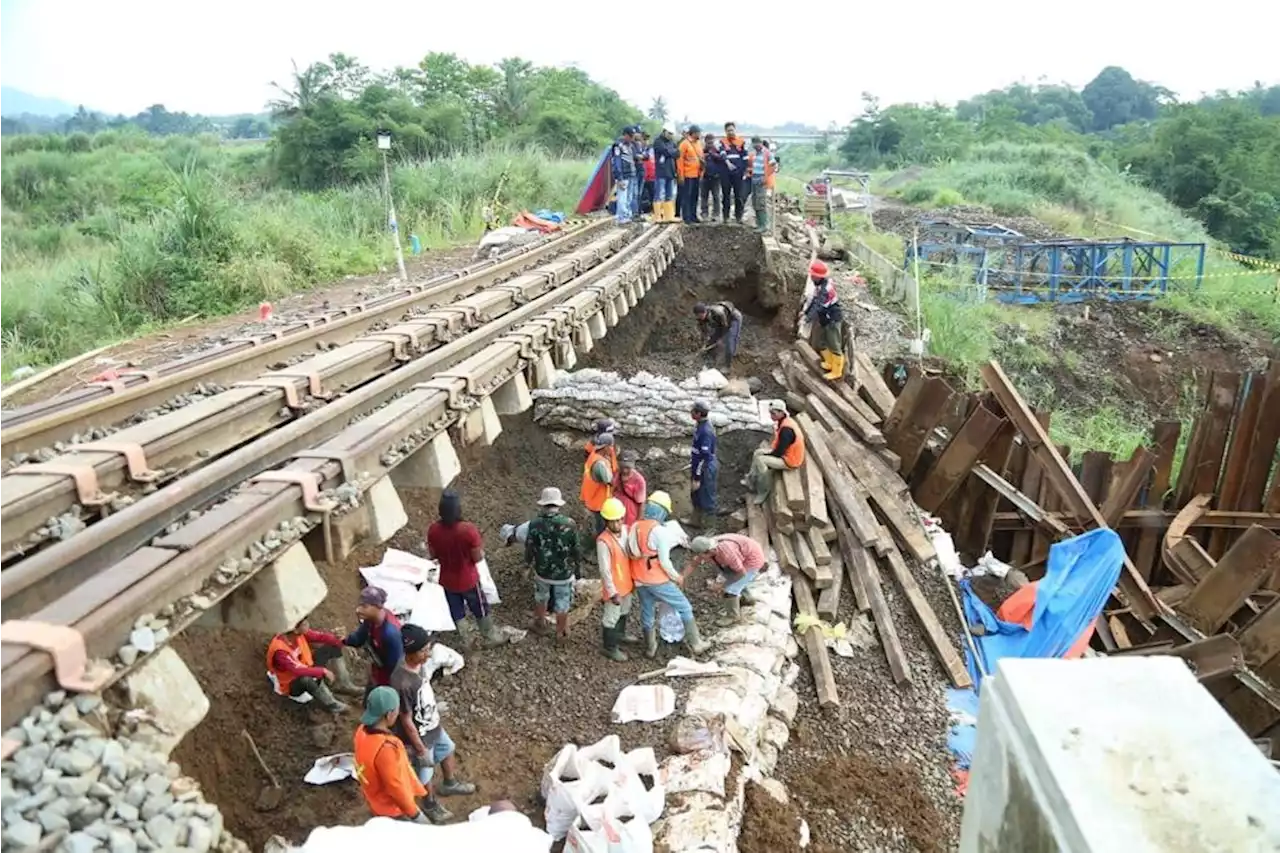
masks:
<path id="1" fill-rule="evenodd" d="M 0 0 L 0 85 L 106 113 L 260 111 L 291 61 L 343 51 L 383 69 L 439 50 L 576 64 L 644 109 L 663 96 L 676 120 L 826 126 L 852 118 L 863 91 L 950 102 L 1016 81 L 1082 86 L 1108 64 L 1183 97 L 1280 83 L 1280 3 L 1187 5 Z"/>

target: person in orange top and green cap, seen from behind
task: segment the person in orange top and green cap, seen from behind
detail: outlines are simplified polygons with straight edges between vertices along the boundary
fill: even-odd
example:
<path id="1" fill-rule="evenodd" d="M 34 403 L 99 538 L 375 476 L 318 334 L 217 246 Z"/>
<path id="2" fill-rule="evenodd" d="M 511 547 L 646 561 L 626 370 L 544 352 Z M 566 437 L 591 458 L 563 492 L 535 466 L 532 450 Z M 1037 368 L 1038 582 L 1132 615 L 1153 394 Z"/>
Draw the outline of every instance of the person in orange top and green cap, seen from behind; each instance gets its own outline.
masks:
<path id="1" fill-rule="evenodd" d="M 431 818 L 417 807 L 426 788 L 417 780 L 404 742 L 392 727 L 399 719 L 399 695 L 387 685 L 370 690 L 355 738 L 355 776 L 369 811 L 415 824 Z"/>

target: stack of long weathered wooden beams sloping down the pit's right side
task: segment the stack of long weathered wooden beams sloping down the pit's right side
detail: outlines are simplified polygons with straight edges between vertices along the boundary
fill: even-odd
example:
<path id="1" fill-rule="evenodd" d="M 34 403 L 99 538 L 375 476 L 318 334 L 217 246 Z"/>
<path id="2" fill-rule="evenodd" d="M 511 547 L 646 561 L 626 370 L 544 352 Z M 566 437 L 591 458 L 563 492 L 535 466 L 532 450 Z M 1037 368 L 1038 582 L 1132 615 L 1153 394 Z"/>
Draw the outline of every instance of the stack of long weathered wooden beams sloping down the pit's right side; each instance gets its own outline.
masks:
<path id="1" fill-rule="evenodd" d="M 895 406 L 865 353 L 849 360 L 851 382 L 826 382 L 808 343 L 780 356 L 788 405 L 805 441 L 805 464 L 778 476 L 763 512 L 749 508 L 748 526 L 772 542 L 792 578 L 796 611 L 835 624 L 847 583 L 854 612 L 870 612 L 890 670 L 899 683 L 911 666 L 884 599 L 887 573 L 919 621 L 952 684 L 969 686 L 969 672 L 916 580 L 936 571 L 936 552 L 920 524 L 901 460 L 887 447 L 881 425 Z M 838 704 L 831 658 L 820 628 L 804 637 L 822 704 Z"/>

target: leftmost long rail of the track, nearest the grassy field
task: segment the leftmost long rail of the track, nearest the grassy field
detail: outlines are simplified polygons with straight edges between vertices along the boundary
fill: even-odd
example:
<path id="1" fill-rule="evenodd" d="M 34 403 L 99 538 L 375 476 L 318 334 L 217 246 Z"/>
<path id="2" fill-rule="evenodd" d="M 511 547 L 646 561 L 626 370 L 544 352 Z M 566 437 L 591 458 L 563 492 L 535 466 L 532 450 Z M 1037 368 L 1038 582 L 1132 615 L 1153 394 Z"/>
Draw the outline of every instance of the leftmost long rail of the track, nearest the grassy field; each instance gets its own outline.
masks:
<path id="1" fill-rule="evenodd" d="M 200 384 L 228 384 L 269 365 L 314 352 L 317 341 L 347 343 L 394 323 L 406 311 L 452 302 L 479 288 L 529 269 L 609 225 L 576 224 L 553 237 L 406 286 L 376 298 L 314 316 L 287 320 L 259 337 L 243 337 L 147 370 L 132 370 L 106 383 L 92 383 L 27 406 L 0 412 L 0 457 L 36 453 L 76 439 L 92 426 L 114 426 L 129 416 L 164 405 Z"/>

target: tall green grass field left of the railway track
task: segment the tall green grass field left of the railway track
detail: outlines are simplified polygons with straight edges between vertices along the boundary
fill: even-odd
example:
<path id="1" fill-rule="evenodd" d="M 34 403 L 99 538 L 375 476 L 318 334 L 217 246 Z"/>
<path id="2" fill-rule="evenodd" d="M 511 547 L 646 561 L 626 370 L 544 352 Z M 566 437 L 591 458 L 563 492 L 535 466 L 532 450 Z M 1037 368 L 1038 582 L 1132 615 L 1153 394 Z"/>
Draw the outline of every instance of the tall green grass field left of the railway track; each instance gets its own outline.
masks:
<path id="1" fill-rule="evenodd" d="M 380 184 L 287 192 L 265 146 L 106 136 L 0 147 L 0 379 L 390 260 Z M 591 165 L 522 149 L 403 164 L 399 227 L 431 248 L 477 234 L 486 205 L 568 210 Z"/>

